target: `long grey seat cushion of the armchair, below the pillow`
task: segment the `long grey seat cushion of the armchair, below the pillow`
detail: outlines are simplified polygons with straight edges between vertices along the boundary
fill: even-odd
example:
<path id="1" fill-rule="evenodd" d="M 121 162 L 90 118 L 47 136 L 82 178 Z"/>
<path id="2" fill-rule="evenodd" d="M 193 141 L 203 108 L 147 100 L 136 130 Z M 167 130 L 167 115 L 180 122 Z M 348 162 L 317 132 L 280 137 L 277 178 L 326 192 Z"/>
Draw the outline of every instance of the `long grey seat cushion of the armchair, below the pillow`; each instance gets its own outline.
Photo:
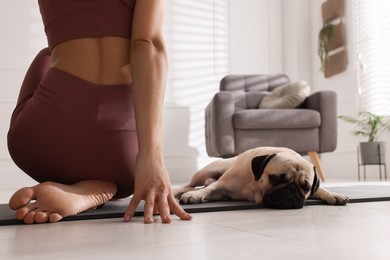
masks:
<path id="1" fill-rule="evenodd" d="M 236 111 L 233 116 L 237 129 L 302 129 L 320 125 L 320 113 L 311 109 L 248 109 Z"/>

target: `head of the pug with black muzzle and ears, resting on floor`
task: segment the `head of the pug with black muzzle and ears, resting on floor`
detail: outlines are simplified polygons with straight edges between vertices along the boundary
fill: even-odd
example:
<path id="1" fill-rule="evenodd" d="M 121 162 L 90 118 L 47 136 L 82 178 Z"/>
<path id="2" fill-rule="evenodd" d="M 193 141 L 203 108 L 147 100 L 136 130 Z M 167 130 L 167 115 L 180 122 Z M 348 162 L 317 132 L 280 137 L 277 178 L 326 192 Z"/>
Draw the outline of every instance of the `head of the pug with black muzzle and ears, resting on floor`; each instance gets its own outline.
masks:
<path id="1" fill-rule="evenodd" d="M 257 156 L 251 167 L 255 180 L 265 187 L 263 203 L 270 208 L 302 208 L 320 185 L 315 168 L 300 155 L 281 152 Z"/>

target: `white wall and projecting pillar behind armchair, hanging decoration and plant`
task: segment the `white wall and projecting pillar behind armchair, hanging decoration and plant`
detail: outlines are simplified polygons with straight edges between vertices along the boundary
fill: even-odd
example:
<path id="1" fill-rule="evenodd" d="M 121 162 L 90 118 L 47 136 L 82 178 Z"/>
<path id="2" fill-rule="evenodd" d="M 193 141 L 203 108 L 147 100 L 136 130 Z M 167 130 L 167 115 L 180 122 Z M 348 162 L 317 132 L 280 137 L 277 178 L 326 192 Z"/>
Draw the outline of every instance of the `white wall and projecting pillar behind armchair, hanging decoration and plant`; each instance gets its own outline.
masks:
<path id="1" fill-rule="evenodd" d="M 283 0 L 283 71 L 292 80 L 306 80 L 313 91 L 332 90 L 337 93 L 339 115 L 356 115 L 358 111 L 357 71 L 355 64 L 354 1 L 345 1 L 348 68 L 325 79 L 317 55 L 317 37 L 322 27 L 321 4 L 324 0 Z M 326 177 L 357 180 L 357 145 L 360 140 L 350 132 L 353 126 L 338 121 L 336 151 L 321 155 Z M 382 139 L 389 139 L 384 135 Z M 387 144 L 389 145 L 389 144 Z M 389 153 L 387 153 L 389 161 Z M 378 179 L 378 167 L 367 167 L 368 177 Z"/>

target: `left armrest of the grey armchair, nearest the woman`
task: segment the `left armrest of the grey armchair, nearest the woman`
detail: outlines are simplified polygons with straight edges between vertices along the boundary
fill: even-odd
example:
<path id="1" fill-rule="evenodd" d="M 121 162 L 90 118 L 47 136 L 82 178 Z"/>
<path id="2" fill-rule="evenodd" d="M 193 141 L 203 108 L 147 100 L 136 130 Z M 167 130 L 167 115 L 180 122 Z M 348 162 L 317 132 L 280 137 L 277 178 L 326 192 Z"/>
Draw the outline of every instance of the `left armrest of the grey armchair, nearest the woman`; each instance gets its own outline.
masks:
<path id="1" fill-rule="evenodd" d="M 209 156 L 229 157 L 234 155 L 233 94 L 221 91 L 214 95 L 205 111 L 206 150 Z"/>

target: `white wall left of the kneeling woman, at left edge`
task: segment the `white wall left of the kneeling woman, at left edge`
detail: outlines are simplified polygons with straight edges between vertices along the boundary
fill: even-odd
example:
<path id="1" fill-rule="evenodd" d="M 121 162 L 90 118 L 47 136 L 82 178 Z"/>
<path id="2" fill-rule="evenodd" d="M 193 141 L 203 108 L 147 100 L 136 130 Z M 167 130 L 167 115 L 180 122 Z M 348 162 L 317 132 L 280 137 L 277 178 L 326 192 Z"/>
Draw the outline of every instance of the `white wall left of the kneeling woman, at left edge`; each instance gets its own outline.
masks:
<path id="1" fill-rule="evenodd" d="M 0 190 L 34 183 L 11 161 L 6 144 L 9 119 L 19 86 L 35 56 L 45 46 L 36 1 L 0 2 Z"/>

